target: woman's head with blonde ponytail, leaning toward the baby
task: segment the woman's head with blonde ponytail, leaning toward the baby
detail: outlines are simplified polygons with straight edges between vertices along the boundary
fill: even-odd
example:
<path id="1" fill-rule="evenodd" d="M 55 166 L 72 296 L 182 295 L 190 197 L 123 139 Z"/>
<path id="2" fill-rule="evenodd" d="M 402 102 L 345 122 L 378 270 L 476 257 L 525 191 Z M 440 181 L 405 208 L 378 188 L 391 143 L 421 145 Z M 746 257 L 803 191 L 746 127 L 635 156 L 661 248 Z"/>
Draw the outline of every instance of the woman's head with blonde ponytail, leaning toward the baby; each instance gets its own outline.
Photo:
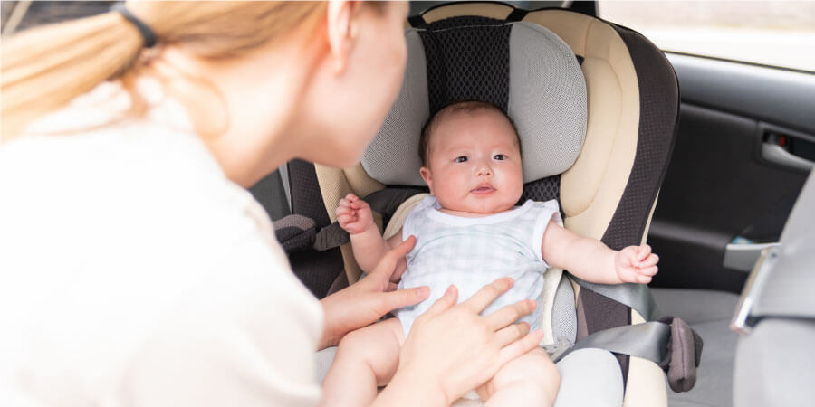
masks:
<path id="1" fill-rule="evenodd" d="M 139 30 L 118 13 L 35 28 L 4 43 L 4 141 L 101 81 L 122 78 L 128 86 L 142 73 L 166 79 L 162 76 L 168 68 L 181 67 L 172 80 L 187 80 L 192 84 L 187 88 L 211 88 L 215 91 L 210 95 L 224 99 L 218 104 L 189 98 L 193 100 L 186 107 L 195 110 L 190 112 L 194 124 L 197 117 L 212 122 L 226 112 L 227 119 L 215 122 L 232 127 L 244 123 L 244 128 L 232 129 L 243 133 L 252 123 L 256 132 L 268 133 L 246 135 L 261 150 L 254 152 L 256 159 L 276 150 L 285 152 L 274 157 L 277 161 L 300 156 L 349 166 L 398 94 L 406 53 L 406 3 L 128 2 L 127 7 L 156 34 L 154 49 L 144 49 Z M 197 63 L 176 63 L 177 55 Z M 239 71 L 230 68 L 241 64 L 254 67 L 241 71 L 251 75 L 218 78 Z M 253 109 L 237 109 L 234 102 L 240 98 L 231 98 L 232 90 L 225 89 L 229 81 L 243 81 L 253 90 L 244 91 Z M 264 118 L 276 122 L 263 123 Z M 220 130 L 230 131 L 205 127 L 197 130 L 214 137 L 222 136 Z M 237 140 L 224 138 L 235 147 Z"/>

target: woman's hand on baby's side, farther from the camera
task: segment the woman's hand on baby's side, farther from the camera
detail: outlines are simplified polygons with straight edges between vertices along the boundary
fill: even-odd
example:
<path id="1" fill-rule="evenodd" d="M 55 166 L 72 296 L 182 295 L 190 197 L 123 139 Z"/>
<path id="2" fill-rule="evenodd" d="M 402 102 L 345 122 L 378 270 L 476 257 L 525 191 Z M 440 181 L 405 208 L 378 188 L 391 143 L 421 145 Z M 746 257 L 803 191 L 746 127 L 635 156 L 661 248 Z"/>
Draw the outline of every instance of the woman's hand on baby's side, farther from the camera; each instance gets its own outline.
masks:
<path id="1" fill-rule="evenodd" d="M 337 345 L 350 331 L 376 322 L 393 309 L 424 301 L 430 295 L 427 287 L 397 290 L 399 276 L 394 275 L 394 270 L 415 244 L 416 238 L 411 236 L 386 252 L 364 279 L 320 300 L 325 316 L 320 349 Z"/>

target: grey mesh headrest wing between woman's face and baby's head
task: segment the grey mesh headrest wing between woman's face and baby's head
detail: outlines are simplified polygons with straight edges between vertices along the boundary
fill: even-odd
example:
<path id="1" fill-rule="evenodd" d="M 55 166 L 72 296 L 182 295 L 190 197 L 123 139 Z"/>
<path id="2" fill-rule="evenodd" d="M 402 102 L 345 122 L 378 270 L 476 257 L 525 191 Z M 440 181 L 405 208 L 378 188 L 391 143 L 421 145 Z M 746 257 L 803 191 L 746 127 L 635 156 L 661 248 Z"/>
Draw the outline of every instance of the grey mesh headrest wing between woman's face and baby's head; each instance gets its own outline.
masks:
<path id="1" fill-rule="evenodd" d="M 362 156 L 362 167 L 386 185 L 425 185 L 418 169 L 418 139 L 430 116 L 425 49 L 416 29 L 406 31 L 408 66 L 402 90 Z"/>

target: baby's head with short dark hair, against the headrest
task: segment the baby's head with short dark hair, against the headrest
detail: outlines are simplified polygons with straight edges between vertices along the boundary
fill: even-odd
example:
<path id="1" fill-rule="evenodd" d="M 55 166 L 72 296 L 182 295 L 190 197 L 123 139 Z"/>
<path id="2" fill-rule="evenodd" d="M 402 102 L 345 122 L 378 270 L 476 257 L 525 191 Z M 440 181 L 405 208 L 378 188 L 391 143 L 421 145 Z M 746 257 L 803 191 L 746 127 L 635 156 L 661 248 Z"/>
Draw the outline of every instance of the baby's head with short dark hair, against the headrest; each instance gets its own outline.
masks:
<path id="1" fill-rule="evenodd" d="M 438 123 L 421 174 L 443 208 L 464 215 L 506 211 L 523 193 L 513 127 L 487 109 L 457 112 Z"/>

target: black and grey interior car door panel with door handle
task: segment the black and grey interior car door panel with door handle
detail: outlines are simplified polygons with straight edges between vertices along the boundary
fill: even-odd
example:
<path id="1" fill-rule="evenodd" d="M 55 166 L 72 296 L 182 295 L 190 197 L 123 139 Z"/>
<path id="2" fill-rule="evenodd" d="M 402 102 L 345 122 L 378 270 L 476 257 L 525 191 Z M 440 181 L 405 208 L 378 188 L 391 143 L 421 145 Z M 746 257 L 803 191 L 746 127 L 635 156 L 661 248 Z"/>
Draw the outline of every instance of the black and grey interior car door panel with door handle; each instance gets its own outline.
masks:
<path id="1" fill-rule="evenodd" d="M 648 236 L 653 285 L 739 292 L 749 267 L 734 267 L 750 262 L 733 251 L 778 241 L 815 158 L 815 75 L 668 56 L 682 104 Z"/>

